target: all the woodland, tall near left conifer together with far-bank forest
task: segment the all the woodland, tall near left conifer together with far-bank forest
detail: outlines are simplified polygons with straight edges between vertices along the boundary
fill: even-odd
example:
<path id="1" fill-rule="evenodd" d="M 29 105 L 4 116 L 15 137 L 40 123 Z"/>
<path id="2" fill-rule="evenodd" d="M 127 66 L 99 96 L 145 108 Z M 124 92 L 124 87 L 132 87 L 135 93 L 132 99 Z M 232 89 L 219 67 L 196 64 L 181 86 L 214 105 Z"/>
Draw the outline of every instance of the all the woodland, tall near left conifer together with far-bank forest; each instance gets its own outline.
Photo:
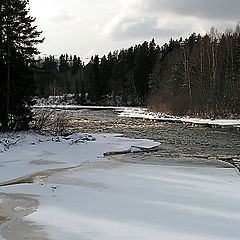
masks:
<path id="1" fill-rule="evenodd" d="M 38 57 L 44 41 L 29 0 L 0 0 L 0 129 L 22 130 L 34 97 L 74 96 L 81 105 L 147 106 L 174 115 L 238 117 L 240 25 L 170 41 L 152 39 L 92 56 Z"/>

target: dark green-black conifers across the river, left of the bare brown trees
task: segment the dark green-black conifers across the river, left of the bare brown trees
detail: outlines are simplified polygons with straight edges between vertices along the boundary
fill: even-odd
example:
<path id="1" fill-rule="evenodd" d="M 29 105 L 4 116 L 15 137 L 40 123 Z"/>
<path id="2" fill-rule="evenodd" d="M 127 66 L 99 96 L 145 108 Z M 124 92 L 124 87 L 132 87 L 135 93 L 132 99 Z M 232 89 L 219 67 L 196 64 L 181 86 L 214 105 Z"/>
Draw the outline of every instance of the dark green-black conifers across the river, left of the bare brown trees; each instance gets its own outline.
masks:
<path id="1" fill-rule="evenodd" d="M 35 74 L 37 95 L 75 94 L 80 104 L 144 105 L 148 79 L 159 49 L 152 41 L 91 58 L 62 54 L 39 59 L 43 71 Z"/>

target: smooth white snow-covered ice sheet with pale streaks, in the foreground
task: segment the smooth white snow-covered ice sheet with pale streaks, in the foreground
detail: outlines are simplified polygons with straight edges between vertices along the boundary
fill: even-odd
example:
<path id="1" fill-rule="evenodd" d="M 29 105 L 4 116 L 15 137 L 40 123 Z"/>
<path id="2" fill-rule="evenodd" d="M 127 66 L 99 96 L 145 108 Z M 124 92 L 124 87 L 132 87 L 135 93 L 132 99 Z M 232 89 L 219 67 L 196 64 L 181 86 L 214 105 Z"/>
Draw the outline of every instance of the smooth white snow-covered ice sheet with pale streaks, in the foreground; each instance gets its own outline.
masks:
<path id="1" fill-rule="evenodd" d="M 39 210 L 25 220 L 57 240 L 231 240 L 238 239 L 239 190 L 233 169 L 122 165 L 5 191 L 40 194 Z"/>

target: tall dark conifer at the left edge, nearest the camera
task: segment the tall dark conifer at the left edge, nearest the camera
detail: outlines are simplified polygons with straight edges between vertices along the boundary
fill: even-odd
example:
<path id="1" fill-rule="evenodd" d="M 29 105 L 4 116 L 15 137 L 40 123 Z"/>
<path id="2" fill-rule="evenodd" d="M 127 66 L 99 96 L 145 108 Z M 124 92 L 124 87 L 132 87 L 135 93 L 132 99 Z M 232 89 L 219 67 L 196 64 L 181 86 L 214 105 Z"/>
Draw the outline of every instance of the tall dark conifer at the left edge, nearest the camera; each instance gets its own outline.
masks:
<path id="1" fill-rule="evenodd" d="M 0 0 L 0 128 L 20 130 L 31 120 L 33 70 L 41 32 L 29 15 L 29 0 Z"/>

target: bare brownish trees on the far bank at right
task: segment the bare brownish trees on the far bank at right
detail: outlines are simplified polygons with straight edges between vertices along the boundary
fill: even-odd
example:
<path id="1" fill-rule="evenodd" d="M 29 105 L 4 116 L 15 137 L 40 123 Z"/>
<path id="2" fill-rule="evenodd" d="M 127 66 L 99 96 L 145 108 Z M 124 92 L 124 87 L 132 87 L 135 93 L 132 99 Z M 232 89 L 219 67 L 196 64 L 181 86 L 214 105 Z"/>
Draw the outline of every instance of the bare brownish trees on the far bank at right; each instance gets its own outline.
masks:
<path id="1" fill-rule="evenodd" d="M 170 40 L 149 78 L 149 105 L 173 114 L 240 114 L 240 27 Z"/>

